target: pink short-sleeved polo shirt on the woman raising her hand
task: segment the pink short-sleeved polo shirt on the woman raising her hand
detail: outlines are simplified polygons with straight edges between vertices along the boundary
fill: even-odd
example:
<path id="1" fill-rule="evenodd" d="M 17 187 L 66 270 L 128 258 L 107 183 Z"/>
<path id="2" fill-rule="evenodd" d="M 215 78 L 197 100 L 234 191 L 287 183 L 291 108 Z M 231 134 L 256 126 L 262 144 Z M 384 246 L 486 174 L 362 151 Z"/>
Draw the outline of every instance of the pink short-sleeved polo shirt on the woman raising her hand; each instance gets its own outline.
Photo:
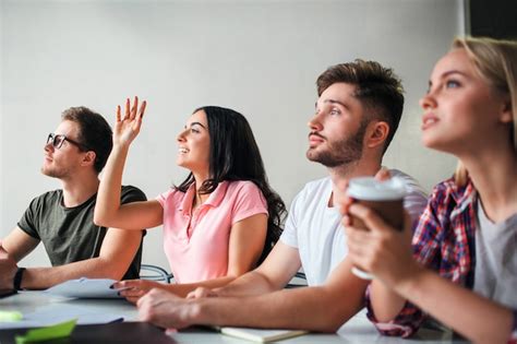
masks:
<path id="1" fill-rule="evenodd" d="M 220 182 L 192 214 L 194 194 L 192 185 L 187 192 L 172 188 L 156 198 L 164 207 L 164 250 L 177 283 L 226 276 L 231 226 L 267 214 L 267 202 L 252 181 Z"/>

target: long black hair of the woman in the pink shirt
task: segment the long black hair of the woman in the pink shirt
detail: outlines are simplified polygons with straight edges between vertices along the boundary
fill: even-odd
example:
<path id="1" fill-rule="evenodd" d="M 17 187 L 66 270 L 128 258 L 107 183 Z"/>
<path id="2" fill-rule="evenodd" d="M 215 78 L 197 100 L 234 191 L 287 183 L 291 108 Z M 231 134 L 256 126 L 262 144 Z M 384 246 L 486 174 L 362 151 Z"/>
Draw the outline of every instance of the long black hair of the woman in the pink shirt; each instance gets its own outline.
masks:
<path id="1" fill-rule="evenodd" d="M 204 106 L 211 138 L 209 176 L 200 188 L 200 193 L 212 193 L 224 180 L 250 180 L 261 189 L 267 202 L 267 235 L 258 264 L 264 261 L 282 232 L 286 205 L 267 181 L 261 152 L 251 131 L 250 123 L 241 114 L 217 106 Z M 187 192 L 194 182 L 192 173 L 177 187 Z"/>

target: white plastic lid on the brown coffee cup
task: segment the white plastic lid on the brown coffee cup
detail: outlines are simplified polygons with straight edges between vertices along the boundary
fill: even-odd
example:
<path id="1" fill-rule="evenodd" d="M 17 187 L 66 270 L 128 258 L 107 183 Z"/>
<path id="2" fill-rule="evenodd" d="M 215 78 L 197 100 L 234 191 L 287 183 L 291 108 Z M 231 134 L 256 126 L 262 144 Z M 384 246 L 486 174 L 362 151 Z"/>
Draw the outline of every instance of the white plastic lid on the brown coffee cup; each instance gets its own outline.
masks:
<path id="1" fill-rule="evenodd" d="M 358 177 L 350 179 L 348 195 L 364 201 L 393 201 L 406 195 L 406 183 L 394 177 L 378 181 L 374 177 Z"/>

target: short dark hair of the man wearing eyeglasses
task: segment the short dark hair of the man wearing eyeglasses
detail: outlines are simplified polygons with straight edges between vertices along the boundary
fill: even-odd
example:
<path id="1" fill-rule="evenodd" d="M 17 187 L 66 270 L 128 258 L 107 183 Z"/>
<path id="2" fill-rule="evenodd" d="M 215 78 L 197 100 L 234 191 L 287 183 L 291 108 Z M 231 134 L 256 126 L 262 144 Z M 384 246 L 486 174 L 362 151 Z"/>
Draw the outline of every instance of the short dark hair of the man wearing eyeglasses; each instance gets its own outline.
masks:
<path id="1" fill-rule="evenodd" d="M 64 110 L 61 119 L 79 124 L 77 140 L 87 150 L 95 152 L 94 168 L 99 174 L 113 147 L 111 127 L 103 116 L 84 106 L 71 107 Z"/>

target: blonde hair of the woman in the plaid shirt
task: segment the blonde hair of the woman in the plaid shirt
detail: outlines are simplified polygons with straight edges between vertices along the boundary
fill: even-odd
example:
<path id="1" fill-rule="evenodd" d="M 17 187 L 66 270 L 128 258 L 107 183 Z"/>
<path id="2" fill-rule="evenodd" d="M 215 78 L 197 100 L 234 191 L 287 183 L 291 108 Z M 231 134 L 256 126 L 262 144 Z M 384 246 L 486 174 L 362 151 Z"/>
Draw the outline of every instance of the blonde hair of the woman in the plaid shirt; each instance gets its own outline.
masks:
<path id="1" fill-rule="evenodd" d="M 513 131 L 510 140 L 517 152 L 517 41 L 486 37 L 456 38 L 453 49 L 465 49 L 481 78 L 497 93 L 509 96 Z M 468 171 L 458 161 L 454 174 L 456 185 L 468 181 Z"/>

